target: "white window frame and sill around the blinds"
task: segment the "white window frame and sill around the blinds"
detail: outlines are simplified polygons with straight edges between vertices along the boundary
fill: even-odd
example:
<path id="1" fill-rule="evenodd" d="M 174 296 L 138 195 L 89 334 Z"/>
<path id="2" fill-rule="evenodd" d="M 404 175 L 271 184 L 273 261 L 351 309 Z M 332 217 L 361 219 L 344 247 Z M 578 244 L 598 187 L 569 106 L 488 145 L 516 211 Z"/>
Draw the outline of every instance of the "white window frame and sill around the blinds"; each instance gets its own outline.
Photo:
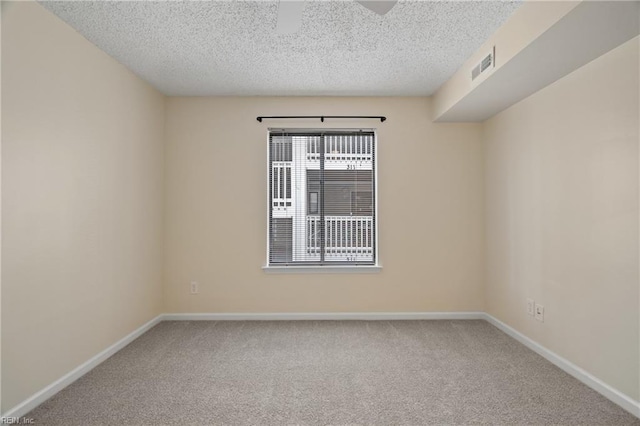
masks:
<path id="1" fill-rule="evenodd" d="M 292 132 L 292 133 L 300 133 L 300 132 L 309 132 L 309 133 L 313 133 L 313 132 L 319 132 L 319 133 L 323 133 L 323 132 L 358 132 L 358 131 L 367 131 L 367 132 L 373 132 L 373 146 L 374 146 L 374 153 L 375 153 L 375 158 L 374 158 L 374 167 L 373 167 L 373 179 L 374 179 L 374 185 L 373 185 L 373 190 L 374 190 L 374 244 L 375 244 L 375 250 L 374 250 L 374 263 L 373 264 L 361 264 L 361 265 L 357 265 L 357 264 L 353 264 L 353 265 L 295 265 L 295 264 L 290 264 L 290 265 L 271 265 L 269 264 L 269 253 L 270 253 L 270 231 L 269 231 L 269 223 L 270 223 L 270 209 L 271 207 L 271 194 L 270 194 L 270 190 L 271 190 L 271 182 L 269 181 L 270 179 L 270 170 L 269 168 L 271 167 L 271 165 L 269 164 L 269 150 L 270 150 L 270 139 L 269 139 L 269 135 L 271 132 Z M 380 263 L 380 245 L 379 245 L 379 224 L 380 224 L 380 218 L 378 216 L 378 167 L 379 167 L 379 157 L 378 157 L 378 133 L 376 131 L 375 128 L 331 128 L 331 129 L 313 129 L 313 128 L 268 128 L 267 129 L 267 138 L 266 138 L 266 153 L 267 155 L 266 157 L 266 163 L 267 163 L 267 167 L 266 167 L 266 190 L 265 190 L 265 194 L 266 194 L 266 225 L 267 225 L 267 232 L 266 232 L 266 252 L 265 252 L 265 264 L 262 267 L 263 271 L 265 271 L 266 273 L 284 273 L 284 274 L 306 274 L 306 273 L 328 273 L 328 274 L 341 274 L 341 273 L 345 273 L 345 274 L 353 274 L 353 273 L 378 273 L 380 271 L 382 271 L 382 265 Z"/>

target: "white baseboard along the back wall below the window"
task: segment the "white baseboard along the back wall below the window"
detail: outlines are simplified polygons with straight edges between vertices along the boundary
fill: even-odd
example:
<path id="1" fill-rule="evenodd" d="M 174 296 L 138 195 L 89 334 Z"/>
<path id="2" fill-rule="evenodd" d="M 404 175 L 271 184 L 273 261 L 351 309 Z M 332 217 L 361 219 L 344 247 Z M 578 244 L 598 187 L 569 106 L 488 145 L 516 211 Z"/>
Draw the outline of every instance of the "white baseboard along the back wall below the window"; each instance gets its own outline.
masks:
<path id="1" fill-rule="evenodd" d="M 296 312 L 164 314 L 163 321 L 301 321 L 301 320 L 471 320 L 485 319 L 484 312 Z"/>

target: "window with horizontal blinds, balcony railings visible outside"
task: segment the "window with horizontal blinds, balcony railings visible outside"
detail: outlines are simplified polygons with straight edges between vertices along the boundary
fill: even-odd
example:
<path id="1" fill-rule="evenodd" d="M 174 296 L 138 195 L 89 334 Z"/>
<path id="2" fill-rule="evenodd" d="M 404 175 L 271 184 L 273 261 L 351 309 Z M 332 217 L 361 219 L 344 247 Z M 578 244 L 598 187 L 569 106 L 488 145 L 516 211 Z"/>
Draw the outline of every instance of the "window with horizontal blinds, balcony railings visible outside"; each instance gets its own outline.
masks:
<path id="1" fill-rule="evenodd" d="M 268 266 L 376 264 L 373 131 L 269 132 Z"/>

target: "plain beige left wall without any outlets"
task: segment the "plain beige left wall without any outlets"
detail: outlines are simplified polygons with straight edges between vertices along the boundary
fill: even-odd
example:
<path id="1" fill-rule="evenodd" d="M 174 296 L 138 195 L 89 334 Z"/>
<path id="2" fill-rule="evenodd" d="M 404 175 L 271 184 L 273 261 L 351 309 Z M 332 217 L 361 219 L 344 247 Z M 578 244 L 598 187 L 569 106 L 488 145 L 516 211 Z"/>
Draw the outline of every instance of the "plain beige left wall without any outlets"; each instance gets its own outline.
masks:
<path id="1" fill-rule="evenodd" d="M 2 4 L 2 411 L 162 310 L 163 96 Z"/>

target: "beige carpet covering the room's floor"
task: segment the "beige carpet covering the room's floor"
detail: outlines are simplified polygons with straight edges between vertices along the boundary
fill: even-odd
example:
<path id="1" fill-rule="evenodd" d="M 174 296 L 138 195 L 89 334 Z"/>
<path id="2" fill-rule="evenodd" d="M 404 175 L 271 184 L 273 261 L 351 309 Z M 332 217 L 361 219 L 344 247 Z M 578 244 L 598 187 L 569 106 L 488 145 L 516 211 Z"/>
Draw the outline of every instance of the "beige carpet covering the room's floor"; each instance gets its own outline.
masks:
<path id="1" fill-rule="evenodd" d="M 640 424 L 485 321 L 163 322 L 36 425 Z"/>

